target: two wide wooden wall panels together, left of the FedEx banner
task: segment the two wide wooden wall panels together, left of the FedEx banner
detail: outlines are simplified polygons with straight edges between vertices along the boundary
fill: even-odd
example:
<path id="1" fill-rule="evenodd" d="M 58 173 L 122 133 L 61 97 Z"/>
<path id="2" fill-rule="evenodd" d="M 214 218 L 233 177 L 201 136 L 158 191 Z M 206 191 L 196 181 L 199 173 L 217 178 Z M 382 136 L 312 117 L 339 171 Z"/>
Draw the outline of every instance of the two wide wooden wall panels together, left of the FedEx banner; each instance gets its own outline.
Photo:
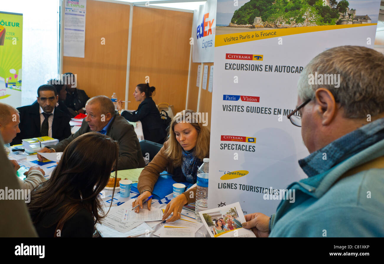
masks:
<path id="1" fill-rule="evenodd" d="M 89 97 L 116 92 L 125 98 L 129 8 L 87 1 L 85 58 L 64 57 L 63 73 L 77 74 L 78 88 Z M 156 104 L 173 104 L 177 112 L 185 108 L 192 20 L 189 12 L 133 7 L 128 109 L 139 106 L 133 92 L 146 76 L 156 87 Z"/>

